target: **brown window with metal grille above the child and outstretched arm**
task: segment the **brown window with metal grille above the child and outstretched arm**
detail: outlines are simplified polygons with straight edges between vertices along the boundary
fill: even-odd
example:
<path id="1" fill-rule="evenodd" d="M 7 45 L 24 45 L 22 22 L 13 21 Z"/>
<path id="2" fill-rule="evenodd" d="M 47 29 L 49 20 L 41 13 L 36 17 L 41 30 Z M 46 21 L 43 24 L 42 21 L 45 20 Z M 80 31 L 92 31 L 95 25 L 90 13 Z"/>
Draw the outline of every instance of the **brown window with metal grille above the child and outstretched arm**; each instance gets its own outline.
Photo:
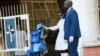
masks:
<path id="1" fill-rule="evenodd" d="M 27 5 L 30 30 L 33 30 L 37 23 L 44 23 L 47 26 L 57 23 L 59 7 L 56 0 L 29 0 L 21 1 L 21 4 Z"/>

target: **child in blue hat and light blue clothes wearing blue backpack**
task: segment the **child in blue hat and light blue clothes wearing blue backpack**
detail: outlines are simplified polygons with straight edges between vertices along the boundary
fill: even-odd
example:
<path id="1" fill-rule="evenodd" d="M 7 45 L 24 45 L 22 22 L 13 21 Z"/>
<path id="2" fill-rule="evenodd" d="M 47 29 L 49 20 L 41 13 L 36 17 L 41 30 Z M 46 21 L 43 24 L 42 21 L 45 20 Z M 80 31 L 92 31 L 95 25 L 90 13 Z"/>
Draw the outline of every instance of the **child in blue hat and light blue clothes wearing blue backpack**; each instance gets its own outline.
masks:
<path id="1" fill-rule="evenodd" d="M 44 25 L 37 24 L 36 30 L 31 33 L 31 46 L 36 56 L 44 56 L 46 51 L 46 43 L 44 41 L 46 36 L 43 36 Z"/>

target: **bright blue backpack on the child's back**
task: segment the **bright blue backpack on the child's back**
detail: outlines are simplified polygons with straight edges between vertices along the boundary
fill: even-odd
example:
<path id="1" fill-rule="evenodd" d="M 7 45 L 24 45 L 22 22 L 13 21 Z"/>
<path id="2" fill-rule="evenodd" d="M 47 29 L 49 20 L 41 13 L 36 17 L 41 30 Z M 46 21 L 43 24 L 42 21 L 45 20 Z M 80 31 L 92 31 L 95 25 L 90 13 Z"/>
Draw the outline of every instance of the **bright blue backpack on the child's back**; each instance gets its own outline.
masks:
<path id="1" fill-rule="evenodd" d="M 31 33 L 31 44 L 41 42 L 41 31 L 33 31 Z"/>

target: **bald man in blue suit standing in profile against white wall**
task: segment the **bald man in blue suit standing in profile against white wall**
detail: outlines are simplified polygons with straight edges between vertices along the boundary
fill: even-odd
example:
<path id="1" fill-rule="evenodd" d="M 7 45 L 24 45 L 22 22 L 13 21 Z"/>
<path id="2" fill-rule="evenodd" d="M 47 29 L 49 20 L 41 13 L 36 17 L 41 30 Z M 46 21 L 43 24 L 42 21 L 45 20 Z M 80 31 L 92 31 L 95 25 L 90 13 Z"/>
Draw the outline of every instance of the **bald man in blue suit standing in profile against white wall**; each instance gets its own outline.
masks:
<path id="1" fill-rule="evenodd" d="M 67 9 L 64 23 L 64 39 L 68 42 L 69 56 L 79 56 L 77 52 L 79 37 L 81 37 L 78 14 L 72 8 L 72 1 L 66 0 L 64 7 Z"/>

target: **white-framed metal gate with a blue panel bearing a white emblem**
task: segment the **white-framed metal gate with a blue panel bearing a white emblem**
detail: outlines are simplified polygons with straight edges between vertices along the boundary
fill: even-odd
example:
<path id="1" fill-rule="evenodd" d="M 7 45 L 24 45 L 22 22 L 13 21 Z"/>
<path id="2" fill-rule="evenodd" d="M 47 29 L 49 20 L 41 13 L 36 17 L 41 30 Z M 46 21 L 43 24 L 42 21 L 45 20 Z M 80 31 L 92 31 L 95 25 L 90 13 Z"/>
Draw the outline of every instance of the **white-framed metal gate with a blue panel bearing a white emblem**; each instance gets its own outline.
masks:
<path id="1" fill-rule="evenodd" d="M 1 52 L 23 50 L 29 46 L 29 16 L 0 17 Z"/>

